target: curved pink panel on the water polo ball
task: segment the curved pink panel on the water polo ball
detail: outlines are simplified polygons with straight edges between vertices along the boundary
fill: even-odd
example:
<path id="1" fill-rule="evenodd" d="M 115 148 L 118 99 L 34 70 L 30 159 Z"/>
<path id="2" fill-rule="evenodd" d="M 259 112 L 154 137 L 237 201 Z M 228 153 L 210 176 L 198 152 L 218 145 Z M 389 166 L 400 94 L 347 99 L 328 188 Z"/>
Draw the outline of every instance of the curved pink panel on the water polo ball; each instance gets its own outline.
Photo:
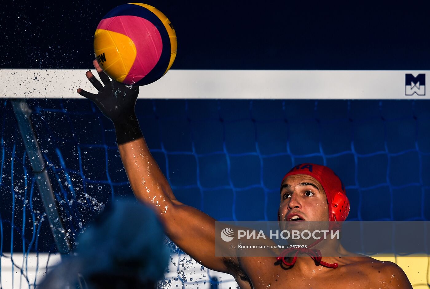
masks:
<path id="1" fill-rule="evenodd" d="M 97 29 L 110 30 L 128 36 L 136 46 L 136 59 L 124 83 L 132 84 L 144 78 L 160 60 L 163 41 L 157 27 L 138 16 L 115 16 L 102 19 Z"/>

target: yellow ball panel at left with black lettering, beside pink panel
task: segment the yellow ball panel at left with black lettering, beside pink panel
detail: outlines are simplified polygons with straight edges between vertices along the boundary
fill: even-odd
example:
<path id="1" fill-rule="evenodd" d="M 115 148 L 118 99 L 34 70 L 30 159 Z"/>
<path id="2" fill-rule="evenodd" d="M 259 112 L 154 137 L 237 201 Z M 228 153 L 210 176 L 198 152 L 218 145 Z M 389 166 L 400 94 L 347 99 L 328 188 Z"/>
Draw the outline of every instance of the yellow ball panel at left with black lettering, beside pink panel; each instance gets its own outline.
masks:
<path id="1" fill-rule="evenodd" d="M 97 29 L 94 34 L 94 53 L 98 64 L 109 76 L 123 81 L 136 58 L 136 47 L 128 36 Z"/>

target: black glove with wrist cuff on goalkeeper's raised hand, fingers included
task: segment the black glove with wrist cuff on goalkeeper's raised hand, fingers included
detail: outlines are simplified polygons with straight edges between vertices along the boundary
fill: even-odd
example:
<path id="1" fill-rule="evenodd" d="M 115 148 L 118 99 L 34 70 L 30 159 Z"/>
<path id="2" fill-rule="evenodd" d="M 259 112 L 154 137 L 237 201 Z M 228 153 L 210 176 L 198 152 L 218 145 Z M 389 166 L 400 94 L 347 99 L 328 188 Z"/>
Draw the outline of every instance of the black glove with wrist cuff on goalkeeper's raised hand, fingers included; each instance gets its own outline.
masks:
<path id="1" fill-rule="evenodd" d="M 112 120 L 118 144 L 124 144 L 141 138 L 142 132 L 135 114 L 139 87 L 126 86 L 115 80 L 110 81 L 109 77 L 98 66 L 96 60 L 94 61 L 94 66 L 104 86 L 94 77 L 91 71 L 88 71 L 86 72 L 86 77 L 98 90 L 98 93 L 89 93 L 80 88 L 77 92 L 87 99 L 92 100 L 101 112 Z"/>

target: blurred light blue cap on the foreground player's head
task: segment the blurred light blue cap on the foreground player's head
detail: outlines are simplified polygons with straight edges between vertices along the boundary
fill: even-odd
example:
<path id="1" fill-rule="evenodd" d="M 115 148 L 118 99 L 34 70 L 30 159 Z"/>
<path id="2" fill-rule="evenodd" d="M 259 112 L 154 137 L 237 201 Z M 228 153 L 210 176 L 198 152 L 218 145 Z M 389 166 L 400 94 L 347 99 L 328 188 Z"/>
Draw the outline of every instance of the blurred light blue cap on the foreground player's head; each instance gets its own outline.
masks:
<path id="1" fill-rule="evenodd" d="M 91 274 L 160 280 L 169 261 L 165 235 L 154 212 L 137 201 L 116 201 L 105 208 L 78 239 L 77 254 Z"/>

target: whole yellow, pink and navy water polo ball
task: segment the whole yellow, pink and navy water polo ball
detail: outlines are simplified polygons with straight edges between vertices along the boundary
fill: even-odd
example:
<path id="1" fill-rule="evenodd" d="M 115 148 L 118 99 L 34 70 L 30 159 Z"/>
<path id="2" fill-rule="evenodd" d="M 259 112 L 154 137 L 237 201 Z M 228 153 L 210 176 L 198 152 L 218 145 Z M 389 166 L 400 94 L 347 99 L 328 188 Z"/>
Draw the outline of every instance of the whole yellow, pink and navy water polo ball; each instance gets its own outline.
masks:
<path id="1" fill-rule="evenodd" d="M 162 77 L 176 57 L 176 33 L 169 19 L 142 3 L 118 6 L 95 30 L 94 54 L 111 78 L 145 85 Z"/>

